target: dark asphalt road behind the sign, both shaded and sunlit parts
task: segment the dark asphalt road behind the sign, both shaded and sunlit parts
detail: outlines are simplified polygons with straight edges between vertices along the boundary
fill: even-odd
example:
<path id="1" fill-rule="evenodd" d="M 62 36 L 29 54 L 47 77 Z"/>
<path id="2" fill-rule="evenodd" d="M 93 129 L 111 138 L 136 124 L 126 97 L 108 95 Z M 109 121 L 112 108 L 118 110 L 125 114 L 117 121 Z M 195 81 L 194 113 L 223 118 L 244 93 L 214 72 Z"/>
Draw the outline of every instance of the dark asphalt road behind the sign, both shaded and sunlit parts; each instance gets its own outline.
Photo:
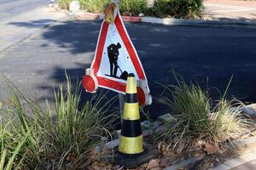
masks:
<path id="1" fill-rule="evenodd" d="M 55 22 L 3 51 L 0 72 L 27 96 L 52 101 L 52 87 L 65 82 L 65 70 L 81 80 L 84 69 L 90 67 L 100 25 L 97 21 Z M 177 84 L 174 70 L 187 82 L 211 88 L 213 99 L 219 97 L 215 88 L 223 94 L 233 76 L 229 97 L 256 102 L 256 28 L 151 24 L 126 27 L 154 99 L 164 90 L 159 83 Z M 0 81 L 0 96 L 6 98 L 4 87 Z M 84 93 L 83 99 L 88 96 Z M 148 110 L 152 116 L 165 113 L 165 108 L 155 101 Z"/>

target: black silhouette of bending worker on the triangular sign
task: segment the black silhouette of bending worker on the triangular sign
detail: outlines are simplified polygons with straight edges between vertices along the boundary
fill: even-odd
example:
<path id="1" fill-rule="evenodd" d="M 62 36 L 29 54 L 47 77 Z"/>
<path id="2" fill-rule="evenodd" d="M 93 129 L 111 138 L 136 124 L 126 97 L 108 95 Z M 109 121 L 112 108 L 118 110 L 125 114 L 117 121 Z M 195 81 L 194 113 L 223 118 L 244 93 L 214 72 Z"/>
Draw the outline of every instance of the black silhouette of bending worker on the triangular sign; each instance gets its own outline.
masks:
<path id="1" fill-rule="evenodd" d="M 121 48 L 121 44 L 119 42 L 116 45 L 112 43 L 108 46 L 110 77 L 117 77 L 116 74 L 119 68 L 119 65 L 117 63 L 119 57 L 119 48 Z"/>

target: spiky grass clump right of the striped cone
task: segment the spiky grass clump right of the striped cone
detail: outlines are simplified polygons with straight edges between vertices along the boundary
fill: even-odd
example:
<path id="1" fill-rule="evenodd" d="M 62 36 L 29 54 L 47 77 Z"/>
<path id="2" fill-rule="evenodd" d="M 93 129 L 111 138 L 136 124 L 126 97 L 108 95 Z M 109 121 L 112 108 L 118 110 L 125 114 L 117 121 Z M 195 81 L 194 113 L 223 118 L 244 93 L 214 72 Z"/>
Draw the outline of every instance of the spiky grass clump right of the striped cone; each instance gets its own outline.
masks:
<path id="1" fill-rule="evenodd" d="M 224 144 L 247 132 L 250 121 L 241 115 L 240 101 L 222 97 L 214 106 L 207 91 L 183 80 L 166 89 L 172 93 L 172 99 L 164 97 L 160 102 L 169 106 L 175 121 L 166 122 L 166 132 L 161 139 L 172 143 L 173 148 L 181 151 L 199 141 Z"/>

